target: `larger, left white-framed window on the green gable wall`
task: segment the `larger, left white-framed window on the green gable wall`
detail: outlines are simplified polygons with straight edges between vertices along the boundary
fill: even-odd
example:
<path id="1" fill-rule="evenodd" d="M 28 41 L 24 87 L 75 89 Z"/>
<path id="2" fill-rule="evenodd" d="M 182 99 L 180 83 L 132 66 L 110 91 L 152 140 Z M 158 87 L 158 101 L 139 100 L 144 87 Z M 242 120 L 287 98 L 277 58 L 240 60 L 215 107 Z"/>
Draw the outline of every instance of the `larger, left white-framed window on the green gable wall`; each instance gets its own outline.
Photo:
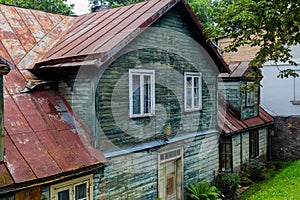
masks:
<path id="1" fill-rule="evenodd" d="M 154 115 L 154 70 L 129 70 L 130 117 Z"/>

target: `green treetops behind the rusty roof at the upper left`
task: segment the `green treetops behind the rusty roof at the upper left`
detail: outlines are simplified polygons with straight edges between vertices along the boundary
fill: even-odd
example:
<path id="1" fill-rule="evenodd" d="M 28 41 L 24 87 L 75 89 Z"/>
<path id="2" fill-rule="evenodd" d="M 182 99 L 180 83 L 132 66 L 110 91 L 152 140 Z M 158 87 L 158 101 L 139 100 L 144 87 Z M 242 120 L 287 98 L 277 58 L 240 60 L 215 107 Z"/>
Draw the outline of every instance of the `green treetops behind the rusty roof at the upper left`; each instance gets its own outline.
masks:
<path id="1" fill-rule="evenodd" d="M 0 0 L 1 4 L 42 10 L 52 13 L 71 15 L 74 4 L 67 5 L 67 0 Z"/>

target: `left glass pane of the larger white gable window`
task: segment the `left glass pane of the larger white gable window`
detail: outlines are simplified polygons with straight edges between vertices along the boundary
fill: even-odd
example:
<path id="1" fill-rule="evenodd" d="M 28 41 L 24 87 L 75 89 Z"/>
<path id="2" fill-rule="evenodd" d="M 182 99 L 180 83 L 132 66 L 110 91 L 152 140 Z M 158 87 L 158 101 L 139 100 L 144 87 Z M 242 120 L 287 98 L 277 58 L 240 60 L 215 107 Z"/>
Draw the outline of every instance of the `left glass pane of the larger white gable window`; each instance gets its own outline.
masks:
<path id="1" fill-rule="evenodd" d="M 132 111 L 133 114 L 140 114 L 141 113 L 141 101 L 140 101 L 140 76 L 133 75 L 132 76 Z"/>

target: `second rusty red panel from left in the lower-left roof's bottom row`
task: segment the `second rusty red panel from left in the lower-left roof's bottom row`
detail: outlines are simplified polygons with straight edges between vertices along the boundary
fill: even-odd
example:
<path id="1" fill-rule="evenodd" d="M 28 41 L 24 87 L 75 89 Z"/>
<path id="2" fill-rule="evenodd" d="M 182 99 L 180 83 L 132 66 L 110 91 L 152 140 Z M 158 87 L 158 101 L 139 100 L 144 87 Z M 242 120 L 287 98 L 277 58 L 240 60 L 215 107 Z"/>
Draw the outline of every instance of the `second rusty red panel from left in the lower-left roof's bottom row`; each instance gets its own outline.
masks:
<path id="1" fill-rule="evenodd" d="M 34 133 L 17 134 L 11 138 L 37 178 L 62 172 Z"/>

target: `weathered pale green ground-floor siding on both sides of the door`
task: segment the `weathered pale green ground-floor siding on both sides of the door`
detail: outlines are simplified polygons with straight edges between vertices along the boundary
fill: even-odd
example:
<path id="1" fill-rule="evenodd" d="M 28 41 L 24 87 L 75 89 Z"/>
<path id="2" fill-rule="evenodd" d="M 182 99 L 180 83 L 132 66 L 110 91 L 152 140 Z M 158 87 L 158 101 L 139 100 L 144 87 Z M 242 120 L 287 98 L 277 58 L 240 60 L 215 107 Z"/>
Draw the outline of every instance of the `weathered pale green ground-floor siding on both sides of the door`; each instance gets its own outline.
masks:
<path id="1" fill-rule="evenodd" d="M 184 150 L 184 186 L 203 179 L 213 181 L 219 167 L 218 136 L 217 132 L 202 134 L 173 144 Z M 159 149 L 109 159 L 104 172 L 94 176 L 94 199 L 155 199 Z"/>

